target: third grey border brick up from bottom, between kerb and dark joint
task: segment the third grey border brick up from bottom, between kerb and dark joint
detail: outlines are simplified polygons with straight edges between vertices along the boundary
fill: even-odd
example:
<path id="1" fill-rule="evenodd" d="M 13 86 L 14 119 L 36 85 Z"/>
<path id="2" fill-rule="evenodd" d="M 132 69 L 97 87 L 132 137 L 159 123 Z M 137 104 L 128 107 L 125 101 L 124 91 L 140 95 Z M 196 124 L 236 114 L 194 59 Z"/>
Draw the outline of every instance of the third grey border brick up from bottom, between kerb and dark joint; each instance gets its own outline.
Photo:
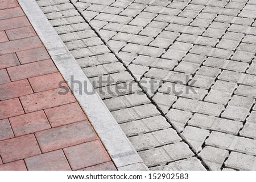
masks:
<path id="1" fill-rule="evenodd" d="M 181 138 L 172 128 L 130 137 L 129 139 L 137 151 L 181 141 Z"/>

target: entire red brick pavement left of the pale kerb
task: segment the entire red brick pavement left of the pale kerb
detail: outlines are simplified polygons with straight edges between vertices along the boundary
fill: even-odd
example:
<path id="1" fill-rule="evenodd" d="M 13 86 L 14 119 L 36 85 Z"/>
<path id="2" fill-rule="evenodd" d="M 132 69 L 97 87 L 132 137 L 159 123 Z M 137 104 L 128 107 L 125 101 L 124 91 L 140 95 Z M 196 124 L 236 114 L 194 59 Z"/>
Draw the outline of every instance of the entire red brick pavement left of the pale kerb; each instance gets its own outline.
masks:
<path id="1" fill-rule="evenodd" d="M 0 170 L 115 170 L 16 1 L 0 1 L 0 35 Z"/>

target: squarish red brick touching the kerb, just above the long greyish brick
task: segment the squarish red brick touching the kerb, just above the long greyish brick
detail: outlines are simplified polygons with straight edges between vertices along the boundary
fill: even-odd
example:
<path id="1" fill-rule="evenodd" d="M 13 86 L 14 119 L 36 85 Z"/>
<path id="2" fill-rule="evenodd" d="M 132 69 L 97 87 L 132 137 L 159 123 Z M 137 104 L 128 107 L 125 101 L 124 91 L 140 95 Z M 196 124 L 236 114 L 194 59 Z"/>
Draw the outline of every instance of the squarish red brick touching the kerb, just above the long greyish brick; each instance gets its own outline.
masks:
<path id="1" fill-rule="evenodd" d="M 86 120 L 84 112 L 82 112 L 78 103 L 46 109 L 45 112 L 52 127 Z M 76 113 L 76 115 L 74 115 L 74 113 Z"/>

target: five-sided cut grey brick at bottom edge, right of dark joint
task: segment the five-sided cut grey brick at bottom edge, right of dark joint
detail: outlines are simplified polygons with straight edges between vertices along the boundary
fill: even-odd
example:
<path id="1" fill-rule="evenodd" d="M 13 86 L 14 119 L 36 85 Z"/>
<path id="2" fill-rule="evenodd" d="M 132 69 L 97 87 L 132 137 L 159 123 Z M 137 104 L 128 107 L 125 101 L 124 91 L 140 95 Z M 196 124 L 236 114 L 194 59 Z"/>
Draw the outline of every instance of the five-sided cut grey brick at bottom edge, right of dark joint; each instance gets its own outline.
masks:
<path id="1" fill-rule="evenodd" d="M 220 171 L 222 164 L 229 156 L 229 152 L 215 147 L 206 146 L 198 155 L 210 170 Z"/>

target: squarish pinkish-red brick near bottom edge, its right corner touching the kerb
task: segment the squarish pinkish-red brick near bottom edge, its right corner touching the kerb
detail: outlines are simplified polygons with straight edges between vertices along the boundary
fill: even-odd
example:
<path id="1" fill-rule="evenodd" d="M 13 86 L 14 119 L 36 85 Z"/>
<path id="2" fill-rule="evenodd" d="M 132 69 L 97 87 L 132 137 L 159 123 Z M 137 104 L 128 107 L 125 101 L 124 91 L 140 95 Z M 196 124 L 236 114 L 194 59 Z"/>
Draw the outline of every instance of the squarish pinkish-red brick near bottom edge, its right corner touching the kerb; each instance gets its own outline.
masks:
<path id="1" fill-rule="evenodd" d="M 98 140 L 65 148 L 64 153 L 72 170 L 80 170 L 81 168 L 110 161 L 108 154 Z"/>

